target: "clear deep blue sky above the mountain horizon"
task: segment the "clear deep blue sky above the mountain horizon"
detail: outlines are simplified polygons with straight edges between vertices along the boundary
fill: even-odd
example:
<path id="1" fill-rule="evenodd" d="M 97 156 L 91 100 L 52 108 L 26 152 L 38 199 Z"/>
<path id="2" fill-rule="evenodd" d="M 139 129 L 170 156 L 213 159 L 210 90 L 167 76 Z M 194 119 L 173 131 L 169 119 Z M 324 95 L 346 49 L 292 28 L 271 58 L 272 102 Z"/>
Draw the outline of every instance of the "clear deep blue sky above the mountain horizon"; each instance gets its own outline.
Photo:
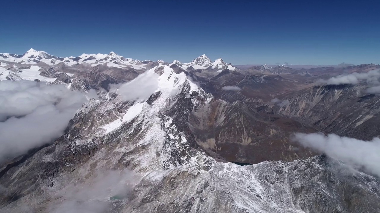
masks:
<path id="1" fill-rule="evenodd" d="M 6 0 L 0 52 L 138 60 L 380 63 L 380 1 Z"/>

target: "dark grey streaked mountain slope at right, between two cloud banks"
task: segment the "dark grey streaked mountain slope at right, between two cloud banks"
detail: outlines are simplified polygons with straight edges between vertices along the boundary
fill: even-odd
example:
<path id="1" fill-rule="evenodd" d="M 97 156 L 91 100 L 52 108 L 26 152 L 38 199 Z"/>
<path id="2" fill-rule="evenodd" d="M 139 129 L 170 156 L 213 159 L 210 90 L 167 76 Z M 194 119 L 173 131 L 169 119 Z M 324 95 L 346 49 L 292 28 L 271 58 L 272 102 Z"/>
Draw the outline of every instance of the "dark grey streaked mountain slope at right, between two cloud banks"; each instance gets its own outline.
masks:
<path id="1" fill-rule="evenodd" d="M 317 85 L 284 94 L 288 104 L 275 106 L 274 110 L 299 117 L 329 132 L 370 140 L 380 135 L 376 128 L 380 99 L 366 94 L 365 88 L 366 85 Z"/>

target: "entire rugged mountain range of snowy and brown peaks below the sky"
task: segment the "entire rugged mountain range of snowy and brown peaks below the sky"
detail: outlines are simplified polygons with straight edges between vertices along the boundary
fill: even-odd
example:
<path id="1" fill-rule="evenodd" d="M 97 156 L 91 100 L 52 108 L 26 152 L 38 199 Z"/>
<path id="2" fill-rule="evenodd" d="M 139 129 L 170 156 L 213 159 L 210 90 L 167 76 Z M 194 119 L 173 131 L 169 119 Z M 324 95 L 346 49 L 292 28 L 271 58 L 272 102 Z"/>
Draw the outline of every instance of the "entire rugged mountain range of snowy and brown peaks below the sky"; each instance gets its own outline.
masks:
<path id="1" fill-rule="evenodd" d="M 363 144 L 380 135 L 379 70 L 0 53 L 0 88 L 31 80 L 88 99 L 49 143 L 0 158 L 0 210 L 378 212 L 377 147 Z"/>

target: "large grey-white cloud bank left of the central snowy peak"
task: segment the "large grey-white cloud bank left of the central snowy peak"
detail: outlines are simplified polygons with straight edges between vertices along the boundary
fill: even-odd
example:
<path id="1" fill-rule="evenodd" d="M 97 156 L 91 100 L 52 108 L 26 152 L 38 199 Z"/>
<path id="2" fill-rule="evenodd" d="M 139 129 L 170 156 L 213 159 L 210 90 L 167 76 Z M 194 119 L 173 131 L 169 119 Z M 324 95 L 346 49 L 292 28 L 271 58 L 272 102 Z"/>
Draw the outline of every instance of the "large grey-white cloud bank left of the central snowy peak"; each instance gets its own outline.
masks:
<path id="1" fill-rule="evenodd" d="M 0 81 L 0 160 L 63 134 L 83 103 L 82 92 L 35 81 Z"/>

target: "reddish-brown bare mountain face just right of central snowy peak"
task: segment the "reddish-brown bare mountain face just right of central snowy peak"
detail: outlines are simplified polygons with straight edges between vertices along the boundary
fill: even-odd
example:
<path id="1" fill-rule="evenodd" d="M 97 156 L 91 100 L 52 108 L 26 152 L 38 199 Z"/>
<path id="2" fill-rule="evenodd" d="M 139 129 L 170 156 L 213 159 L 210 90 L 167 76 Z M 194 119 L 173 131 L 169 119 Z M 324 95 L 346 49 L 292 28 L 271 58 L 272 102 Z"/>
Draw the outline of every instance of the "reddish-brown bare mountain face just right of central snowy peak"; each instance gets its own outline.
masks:
<path id="1" fill-rule="evenodd" d="M 228 161 L 260 163 L 315 155 L 290 142 L 294 132 L 323 130 L 298 119 L 260 113 L 236 101 L 214 101 L 190 116 L 189 125 L 197 143 Z"/>

